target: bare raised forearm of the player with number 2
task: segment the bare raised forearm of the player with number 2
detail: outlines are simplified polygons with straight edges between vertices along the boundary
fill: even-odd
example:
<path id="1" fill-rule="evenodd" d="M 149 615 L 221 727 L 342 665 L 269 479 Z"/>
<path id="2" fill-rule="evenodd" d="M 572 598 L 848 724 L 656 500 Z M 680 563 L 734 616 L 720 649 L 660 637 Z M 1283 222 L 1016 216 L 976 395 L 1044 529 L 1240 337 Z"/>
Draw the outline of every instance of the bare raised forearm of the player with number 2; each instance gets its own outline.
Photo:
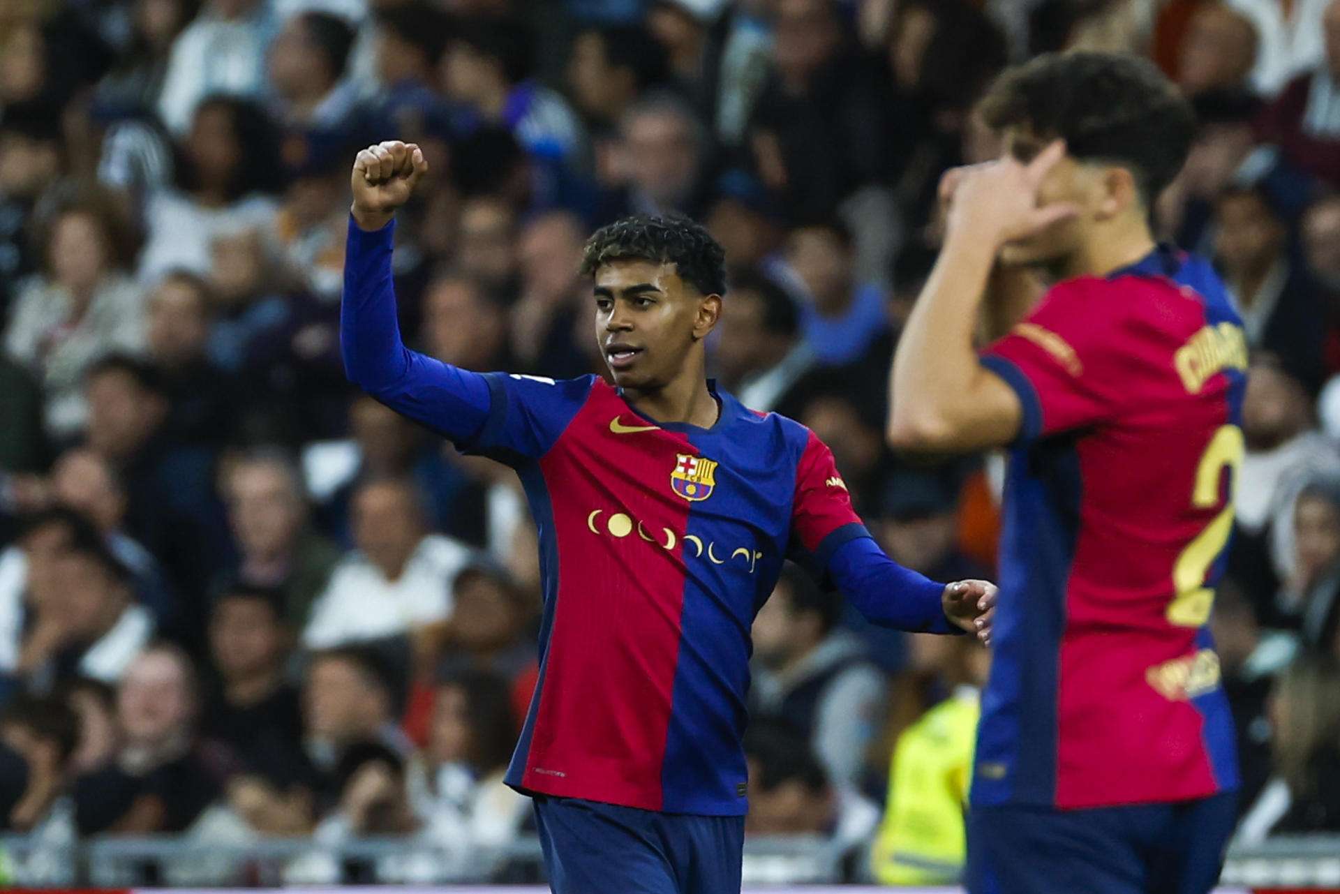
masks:
<path id="1" fill-rule="evenodd" d="M 898 340 L 890 378 L 888 438 L 915 449 L 950 445 L 970 424 L 982 375 L 973 327 L 996 260 L 996 244 L 951 229 Z"/>

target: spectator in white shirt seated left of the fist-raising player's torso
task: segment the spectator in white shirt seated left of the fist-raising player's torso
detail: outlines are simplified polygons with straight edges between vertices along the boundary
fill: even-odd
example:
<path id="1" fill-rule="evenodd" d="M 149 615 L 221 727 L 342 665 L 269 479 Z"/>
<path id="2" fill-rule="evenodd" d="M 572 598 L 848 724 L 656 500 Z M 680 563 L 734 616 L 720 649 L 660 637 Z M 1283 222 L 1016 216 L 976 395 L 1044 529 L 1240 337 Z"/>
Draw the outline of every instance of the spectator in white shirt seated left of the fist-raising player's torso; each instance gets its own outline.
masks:
<path id="1" fill-rule="evenodd" d="M 452 615 L 452 582 L 469 548 L 427 533 L 417 488 L 403 480 L 371 480 L 352 500 L 358 552 L 331 575 L 303 630 L 308 649 L 409 634 Z"/>

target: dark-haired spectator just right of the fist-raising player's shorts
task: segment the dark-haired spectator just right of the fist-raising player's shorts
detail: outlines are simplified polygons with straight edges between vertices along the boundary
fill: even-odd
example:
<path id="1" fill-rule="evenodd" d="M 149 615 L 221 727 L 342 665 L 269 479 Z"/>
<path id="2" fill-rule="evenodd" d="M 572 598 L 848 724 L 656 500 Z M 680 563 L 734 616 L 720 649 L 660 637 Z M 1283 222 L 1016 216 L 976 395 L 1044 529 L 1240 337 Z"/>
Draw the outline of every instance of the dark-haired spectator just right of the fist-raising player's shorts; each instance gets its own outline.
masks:
<path id="1" fill-rule="evenodd" d="M 843 855 L 844 874 L 856 871 L 879 824 L 879 808 L 855 789 L 829 780 L 805 740 L 789 729 L 752 724 L 746 835 L 820 835 Z M 766 858 L 745 858 L 745 883 L 766 881 Z M 761 877 L 761 878 L 757 878 Z"/>

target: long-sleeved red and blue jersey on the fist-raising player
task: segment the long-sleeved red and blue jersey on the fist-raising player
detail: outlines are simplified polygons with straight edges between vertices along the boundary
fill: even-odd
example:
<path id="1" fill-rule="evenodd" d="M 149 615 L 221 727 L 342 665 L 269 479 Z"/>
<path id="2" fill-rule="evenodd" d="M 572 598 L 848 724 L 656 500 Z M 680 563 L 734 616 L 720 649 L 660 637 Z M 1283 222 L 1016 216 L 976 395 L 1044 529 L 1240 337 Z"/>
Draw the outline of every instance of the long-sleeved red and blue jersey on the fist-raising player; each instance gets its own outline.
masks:
<path id="1" fill-rule="evenodd" d="M 832 453 L 709 383 L 709 428 L 638 414 L 603 379 L 477 374 L 407 350 L 394 225 L 350 225 L 346 369 L 389 406 L 517 470 L 539 531 L 539 685 L 507 781 L 657 810 L 746 811 L 750 629 L 787 558 L 875 623 L 950 633 L 943 584 L 879 551 Z"/>

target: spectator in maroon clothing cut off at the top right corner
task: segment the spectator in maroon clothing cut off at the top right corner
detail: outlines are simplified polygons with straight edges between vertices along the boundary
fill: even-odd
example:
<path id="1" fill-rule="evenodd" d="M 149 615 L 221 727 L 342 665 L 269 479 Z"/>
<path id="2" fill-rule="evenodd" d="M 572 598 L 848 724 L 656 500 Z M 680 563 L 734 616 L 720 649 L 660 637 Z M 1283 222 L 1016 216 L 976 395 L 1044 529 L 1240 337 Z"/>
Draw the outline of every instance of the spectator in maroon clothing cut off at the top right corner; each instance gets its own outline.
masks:
<path id="1" fill-rule="evenodd" d="M 1340 188 L 1340 3 L 1327 5 L 1323 29 L 1325 58 L 1284 88 L 1261 130 L 1288 164 Z"/>

